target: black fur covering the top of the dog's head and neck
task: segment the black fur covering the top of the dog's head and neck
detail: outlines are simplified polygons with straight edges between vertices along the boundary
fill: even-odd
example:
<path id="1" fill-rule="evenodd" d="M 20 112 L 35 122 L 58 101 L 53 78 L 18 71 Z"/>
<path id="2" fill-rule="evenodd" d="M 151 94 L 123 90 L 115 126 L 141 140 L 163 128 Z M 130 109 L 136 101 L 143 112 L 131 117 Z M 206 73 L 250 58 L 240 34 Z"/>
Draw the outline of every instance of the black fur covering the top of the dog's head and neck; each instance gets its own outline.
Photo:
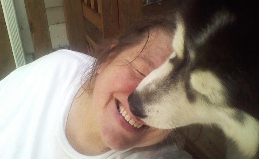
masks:
<path id="1" fill-rule="evenodd" d="M 186 27 L 185 46 L 195 53 L 191 69 L 214 72 L 228 90 L 230 106 L 259 119 L 257 8 L 255 1 L 189 0 L 179 12 Z M 220 11 L 229 13 L 229 22 L 214 28 L 211 17 Z M 198 41 L 208 23 L 210 35 Z"/>

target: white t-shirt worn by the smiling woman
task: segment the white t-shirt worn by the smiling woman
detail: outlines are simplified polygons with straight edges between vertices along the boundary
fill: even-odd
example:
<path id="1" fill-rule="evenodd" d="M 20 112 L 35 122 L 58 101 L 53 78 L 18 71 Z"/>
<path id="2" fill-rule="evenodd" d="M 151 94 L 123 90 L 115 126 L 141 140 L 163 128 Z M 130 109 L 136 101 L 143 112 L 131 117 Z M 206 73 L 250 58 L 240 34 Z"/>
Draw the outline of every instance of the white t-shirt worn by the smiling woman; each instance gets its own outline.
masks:
<path id="1" fill-rule="evenodd" d="M 67 115 L 86 68 L 94 60 L 59 50 L 0 81 L 0 158 L 191 158 L 175 146 L 138 153 L 110 150 L 98 156 L 80 154 L 70 146 L 65 135 Z"/>

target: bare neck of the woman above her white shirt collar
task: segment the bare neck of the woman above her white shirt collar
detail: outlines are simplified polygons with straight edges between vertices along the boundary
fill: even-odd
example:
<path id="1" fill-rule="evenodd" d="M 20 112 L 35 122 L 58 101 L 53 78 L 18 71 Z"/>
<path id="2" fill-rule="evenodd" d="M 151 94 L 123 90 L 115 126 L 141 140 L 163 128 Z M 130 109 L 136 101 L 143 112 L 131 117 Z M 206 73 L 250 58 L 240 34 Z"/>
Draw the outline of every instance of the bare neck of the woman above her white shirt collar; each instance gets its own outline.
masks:
<path id="1" fill-rule="evenodd" d="M 70 145 L 84 155 L 100 155 L 110 150 L 100 136 L 92 96 L 82 87 L 69 110 L 66 136 Z"/>

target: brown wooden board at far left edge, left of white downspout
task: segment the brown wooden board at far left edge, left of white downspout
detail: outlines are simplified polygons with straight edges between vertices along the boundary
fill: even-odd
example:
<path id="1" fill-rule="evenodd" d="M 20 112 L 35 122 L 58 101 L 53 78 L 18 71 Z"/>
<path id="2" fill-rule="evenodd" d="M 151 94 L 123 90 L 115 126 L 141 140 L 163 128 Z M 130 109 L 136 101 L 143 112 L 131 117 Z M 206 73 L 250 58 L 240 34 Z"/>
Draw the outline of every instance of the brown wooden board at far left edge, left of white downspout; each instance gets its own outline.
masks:
<path id="1" fill-rule="evenodd" d="M 0 3 L 0 80 L 15 69 L 14 56 Z"/>

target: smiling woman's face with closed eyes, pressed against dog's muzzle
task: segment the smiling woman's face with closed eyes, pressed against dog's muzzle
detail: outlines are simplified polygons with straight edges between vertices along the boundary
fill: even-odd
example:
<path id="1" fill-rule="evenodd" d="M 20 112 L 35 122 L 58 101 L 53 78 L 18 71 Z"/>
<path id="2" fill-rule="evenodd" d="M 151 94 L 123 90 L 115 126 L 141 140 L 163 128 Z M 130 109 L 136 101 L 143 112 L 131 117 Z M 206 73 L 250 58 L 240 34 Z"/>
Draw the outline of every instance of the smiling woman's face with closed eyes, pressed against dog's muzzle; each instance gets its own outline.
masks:
<path id="1" fill-rule="evenodd" d="M 143 123 L 129 111 L 129 95 L 172 53 L 172 39 L 163 31 L 150 31 L 147 45 L 140 53 L 146 40 L 144 38 L 138 45 L 125 49 L 98 70 L 93 104 L 102 140 L 114 150 L 152 145 L 164 140 L 169 133 L 147 126 L 136 128 Z M 131 124 L 122 116 L 119 107 L 125 109 L 124 115 L 127 114 L 127 120 L 132 119 Z"/>

